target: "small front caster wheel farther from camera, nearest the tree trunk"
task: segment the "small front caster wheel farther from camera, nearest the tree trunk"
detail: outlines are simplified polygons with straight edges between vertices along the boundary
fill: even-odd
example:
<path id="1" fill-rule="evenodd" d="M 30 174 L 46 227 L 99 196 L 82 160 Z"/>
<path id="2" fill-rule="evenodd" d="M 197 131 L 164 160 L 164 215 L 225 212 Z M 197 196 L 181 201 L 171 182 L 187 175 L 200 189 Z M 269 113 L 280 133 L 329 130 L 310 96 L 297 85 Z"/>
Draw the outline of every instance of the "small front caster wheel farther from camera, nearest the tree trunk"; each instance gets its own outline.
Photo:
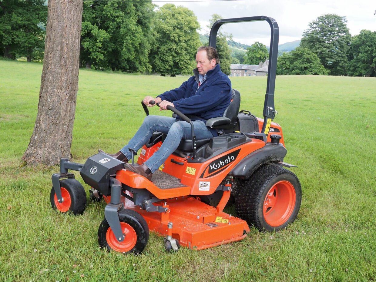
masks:
<path id="1" fill-rule="evenodd" d="M 65 214 L 82 214 L 86 208 L 86 193 L 82 184 L 76 179 L 68 178 L 60 180 L 60 187 L 63 202 L 58 202 L 58 197 L 56 197 L 55 190 L 52 187 L 50 193 L 52 208 Z"/>

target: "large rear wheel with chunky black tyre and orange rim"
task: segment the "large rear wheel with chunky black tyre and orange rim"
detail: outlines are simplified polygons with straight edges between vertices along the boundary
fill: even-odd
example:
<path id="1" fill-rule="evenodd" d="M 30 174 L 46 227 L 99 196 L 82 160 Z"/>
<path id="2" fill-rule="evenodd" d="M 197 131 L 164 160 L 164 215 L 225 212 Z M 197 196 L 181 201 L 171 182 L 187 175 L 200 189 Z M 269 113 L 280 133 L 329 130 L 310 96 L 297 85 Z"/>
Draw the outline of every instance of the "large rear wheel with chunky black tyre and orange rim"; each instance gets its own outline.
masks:
<path id="1" fill-rule="evenodd" d="M 241 219 L 260 231 L 278 231 L 293 223 L 301 202 L 296 175 L 278 165 L 264 165 L 240 181 L 235 208 Z"/>

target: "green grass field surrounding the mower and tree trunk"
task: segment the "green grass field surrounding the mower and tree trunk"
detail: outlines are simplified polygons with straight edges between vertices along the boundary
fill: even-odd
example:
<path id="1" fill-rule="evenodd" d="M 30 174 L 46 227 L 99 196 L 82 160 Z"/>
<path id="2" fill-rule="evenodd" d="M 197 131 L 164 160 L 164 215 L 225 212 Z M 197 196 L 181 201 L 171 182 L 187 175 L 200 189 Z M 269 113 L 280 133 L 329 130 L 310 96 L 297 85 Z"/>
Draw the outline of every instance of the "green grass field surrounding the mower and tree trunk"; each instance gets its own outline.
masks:
<path id="1" fill-rule="evenodd" d="M 251 228 L 242 241 L 174 254 L 152 233 L 143 255 L 124 256 L 98 247 L 105 203 L 88 200 L 76 217 L 57 214 L 49 195 L 59 168 L 21 165 L 41 71 L 41 64 L 0 61 L 0 281 L 376 280 L 375 78 L 277 77 L 274 121 L 284 130 L 285 162 L 299 167 L 292 170 L 303 191 L 287 229 Z M 143 120 L 143 97 L 184 80 L 80 70 L 73 161 L 85 162 L 98 148 L 117 152 Z M 260 117 L 266 77 L 231 80 L 241 109 Z"/>

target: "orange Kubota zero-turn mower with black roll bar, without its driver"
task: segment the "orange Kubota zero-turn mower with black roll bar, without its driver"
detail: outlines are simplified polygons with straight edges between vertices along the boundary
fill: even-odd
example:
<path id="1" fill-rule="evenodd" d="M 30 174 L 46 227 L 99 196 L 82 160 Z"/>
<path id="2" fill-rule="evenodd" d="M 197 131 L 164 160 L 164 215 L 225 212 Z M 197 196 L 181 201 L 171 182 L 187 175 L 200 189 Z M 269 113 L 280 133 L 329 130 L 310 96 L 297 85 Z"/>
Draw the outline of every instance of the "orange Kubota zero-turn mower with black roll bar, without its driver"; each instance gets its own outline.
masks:
<path id="1" fill-rule="evenodd" d="M 273 18 L 264 16 L 218 20 L 212 27 L 209 45 L 215 47 L 219 27 L 224 23 L 265 20 L 271 27 L 269 70 L 264 118 L 240 111 L 240 93 L 232 89 L 232 101 L 224 116 L 206 125 L 223 134 L 196 140 L 194 126 L 175 108 L 174 114 L 191 124 L 192 139 L 183 139 L 179 148 L 149 181 L 124 169 L 124 162 L 98 153 L 77 164 L 61 159 L 60 173 L 52 176 L 51 205 L 63 213 L 81 214 L 86 206 L 83 186 L 68 170 L 80 171 L 91 186 L 90 197 L 107 203 L 105 219 L 99 226 L 102 247 L 123 253 L 140 253 L 149 239 L 149 230 L 164 236 L 166 250 L 179 246 L 201 250 L 238 241 L 250 232 L 285 228 L 300 208 L 299 180 L 284 167 L 287 153 L 282 129 L 272 122 L 279 29 Z M 149 111 L 145 105 L 146 114 Z M 141 165 L 164 141 L 155 132 L 141 149 Z M 237 216 L 223 212 L 230 195 Z"/>

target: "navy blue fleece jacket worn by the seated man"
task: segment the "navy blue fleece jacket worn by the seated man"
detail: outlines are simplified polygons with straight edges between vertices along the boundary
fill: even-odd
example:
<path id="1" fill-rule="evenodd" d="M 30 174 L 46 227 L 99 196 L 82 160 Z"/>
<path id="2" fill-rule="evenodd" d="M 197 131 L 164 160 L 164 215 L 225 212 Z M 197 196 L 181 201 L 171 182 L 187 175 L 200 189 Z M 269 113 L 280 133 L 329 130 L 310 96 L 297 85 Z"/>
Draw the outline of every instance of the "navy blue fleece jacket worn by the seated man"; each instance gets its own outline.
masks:
<path id="1" fill-rule="evenodd" d="M 179 88 L 166 91 L 157 97 L 174 104 L 185 115 L 195 115 L 192 120 L 206 121 L 209 118 L 222 117 L 231 102 L 231 81 L 222 73 L 220 65 L 206 73 L 206 79 L 199 86 L 199 71 L 183 82 Z M 177 117 L 179 118 L 179 117 Z M 217 136 L 215 130 L 211 130 Z"/>

